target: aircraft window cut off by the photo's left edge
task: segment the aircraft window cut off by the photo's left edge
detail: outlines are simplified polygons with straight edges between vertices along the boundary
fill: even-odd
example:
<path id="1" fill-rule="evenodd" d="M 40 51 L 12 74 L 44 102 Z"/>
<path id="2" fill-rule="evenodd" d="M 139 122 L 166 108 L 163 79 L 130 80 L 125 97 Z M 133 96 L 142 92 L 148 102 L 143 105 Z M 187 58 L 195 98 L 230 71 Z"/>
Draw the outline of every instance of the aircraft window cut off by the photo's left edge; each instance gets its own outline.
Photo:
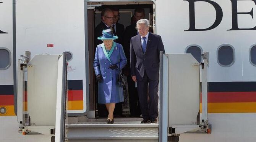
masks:
<path id="1" fill-rule="evenodd" d="M 6 70 L 11 66 L 11 52 L 5 47 L 0 47 L 0 70 Z"/>

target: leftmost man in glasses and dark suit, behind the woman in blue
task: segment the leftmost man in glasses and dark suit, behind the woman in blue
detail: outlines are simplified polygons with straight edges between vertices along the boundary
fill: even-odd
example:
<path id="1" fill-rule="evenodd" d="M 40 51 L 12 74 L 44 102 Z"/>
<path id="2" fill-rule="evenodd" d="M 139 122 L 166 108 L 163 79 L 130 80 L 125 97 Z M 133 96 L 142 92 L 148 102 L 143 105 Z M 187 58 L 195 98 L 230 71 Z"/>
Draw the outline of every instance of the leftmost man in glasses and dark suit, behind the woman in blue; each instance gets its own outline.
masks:
<path id="1" fill-rule="evenodd" d="M 97 37 L 102 36 L 102 30 L 111 29 L 114 19 L 113 11 L 109 8 L 105 8 L 101 11 L 101 22 L 96 26 L 94 30 L 94 48 L 96 49 L 97 45 L 102 44 L 103 42 Z M 124 30 L 124 29 L 123 29 Z M 118 29 L 117 29 L 118 31 Z M 114 33 L 114 32 L 113 32 Z M 105 107 L 105 104 L 98 104 L 97 103 L 97 109 L 99 117 L 107 117 L 108 111 Z M 122 117 L 123 116 L 123 109 L 122 109 L 122 103 L 116 103 L 115 110 L 114 110 L 114 117 Z"/>

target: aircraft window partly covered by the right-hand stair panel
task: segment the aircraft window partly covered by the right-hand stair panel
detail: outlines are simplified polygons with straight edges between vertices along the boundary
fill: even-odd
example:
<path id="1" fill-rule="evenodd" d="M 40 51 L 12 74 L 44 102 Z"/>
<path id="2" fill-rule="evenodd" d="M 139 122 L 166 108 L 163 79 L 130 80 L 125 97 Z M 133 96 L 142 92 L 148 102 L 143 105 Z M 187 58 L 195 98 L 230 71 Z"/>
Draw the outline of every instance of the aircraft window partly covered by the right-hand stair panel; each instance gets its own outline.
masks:
<path id="1" fill-rule="evenodd" d="M 196 60 L 201 63 L 202 62 L 202 54 L 203 49 L 198 46 L 198 45 L 190 45 L 188 47 L 186 47 L 185 49 L 185 53 L 190 53 L 193 55 L 194 58 L 196 58 Z"/>

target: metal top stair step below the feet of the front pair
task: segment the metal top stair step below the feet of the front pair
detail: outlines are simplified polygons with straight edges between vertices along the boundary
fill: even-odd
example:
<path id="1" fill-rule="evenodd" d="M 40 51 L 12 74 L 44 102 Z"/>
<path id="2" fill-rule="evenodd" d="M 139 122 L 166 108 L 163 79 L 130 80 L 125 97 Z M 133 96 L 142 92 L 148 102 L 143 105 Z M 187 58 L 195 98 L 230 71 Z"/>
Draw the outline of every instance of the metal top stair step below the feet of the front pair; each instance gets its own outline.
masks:
<path id="1" fill-rule="evenodd" d="M 139 121 L 66 124 L 66 139 L 158 139 L 158 126 L 158 123 L 140 124 Z"/>

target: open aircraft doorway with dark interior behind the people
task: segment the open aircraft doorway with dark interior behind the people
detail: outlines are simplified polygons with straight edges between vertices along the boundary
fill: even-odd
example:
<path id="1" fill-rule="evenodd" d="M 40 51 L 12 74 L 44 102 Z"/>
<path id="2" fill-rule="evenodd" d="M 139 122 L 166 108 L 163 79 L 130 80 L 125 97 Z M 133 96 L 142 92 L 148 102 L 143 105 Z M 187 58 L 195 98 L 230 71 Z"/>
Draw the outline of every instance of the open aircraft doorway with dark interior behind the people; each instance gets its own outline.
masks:
<path id="1" fill-rule="evenodd" d="M 133 98 L 133 93 L 137 94 L 137 90 L 135 87 L 135 83 L 131 82 L 131 79 L 129 79 L 129 72 L 130 72 L 130 38 L 131 33 L 129 31 L 129 27 L 131 25 L 136 24 L 136 18 L 135 10 L 139 9 L 139 13 L 141 13 L 141 9 L 143 9 L 144 16 L 141 16 L 139 19 L 149 19 L 150 24 L 153 25 L 153 27 L 150 29 L 150 32 L 155 33 L 156 32 L 156 25 L 155 25 L 155 5 L 152 1 L 128 1 L 128 2 L 87 2 L 87 16 L 88 16 L 88 50 L 89 50 L 89 110 L 92 112 L 91 114 L 94 114 L 95 118 L 102 118 L 105 117 L 105 115 L 101 115 L 99 113 L 99 110 L 105 109 L 105 104 L 98 104 L 97 103 L 97 80 L 94 73 L 93 68 L 93 60 L 95 56 L 95 50 L 96 46 L 98 44 L 101 44 L 102 41 L 98 40 L 97 37 L 102 36 L 102 30 L 97 28 L 97 25 L 99 25 L 102 22 L 101 13 L 102 10 L 106 8 L 114 9 L 114 11 L 119 10 L 119 13 L 117 15 L 114 14 L 115 17 L 118 18 L 117 23 L 119 25 L 122 25 L 123 30 L 120 30 L 120 28 L 116 27 L 115 31 L 117 32 L 118 39 L 116 42 L 122 44 L 123 49 L 125 51 L 125 55 L 127 60 L 127 64 L 125 69 L 122 70 L 123 74 L 125 75 L 126 80 L 126 87 L 123 89 L 124 92 L 124 102 L 117 103 L 115 107 L 114 115 L 116 117 L 125 117 L 125 118 L 139 118 L 141 115 L 141 112 L 134 112 L 134 110 L 139 110 L 139 103 L 134 104 L 131 102 L 134 102 L 134 99 L 138 102 L 138 96 L 137 98 Z M 135 27 L 135 26 L 134 26 Z M 128 29 L 128 30 L 127 30 Z M 119 31 L 118 31 L 119 30 Z M 134 31 L 136 31 L 135 28 L 133 28 Z M 137 32 L 135 32 L 138 34 Z M 135 35 L 136 35 L 135 34 Z M 133 35 L 133 36 L 135 36 Z M 133 84 L 132 84 L 133 83 Z M 129 90 L 130 89 L 130 90 Z M 130 92 L 130 94 L 129 94 Z M 102 108 L 103 107 L 103 108 Z M 103 110 L 103 111 L 104 111 Z M 134 115 L 136 114 L 136 115 Z M 93 115 L 90 115 L 93 117 Z"/>

